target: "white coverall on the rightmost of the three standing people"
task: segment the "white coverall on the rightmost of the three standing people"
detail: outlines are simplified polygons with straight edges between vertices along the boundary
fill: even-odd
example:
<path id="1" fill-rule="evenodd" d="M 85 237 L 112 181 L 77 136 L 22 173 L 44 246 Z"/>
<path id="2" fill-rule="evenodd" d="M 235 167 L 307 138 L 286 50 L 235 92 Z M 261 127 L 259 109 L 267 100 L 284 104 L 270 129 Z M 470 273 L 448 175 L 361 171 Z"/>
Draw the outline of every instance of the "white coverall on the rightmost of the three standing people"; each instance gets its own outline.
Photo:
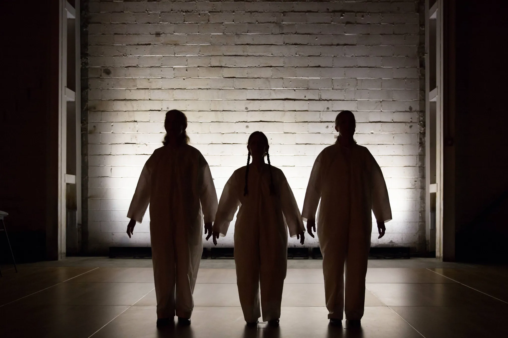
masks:
<path id="1" fill-rule="evenodd" d="M 302 217 L 314 219 L 323 253 L 328 318 L 359 320 L 365 305 L 365 275 L 372 231 L 377 221 L 392 219 L 383 173 L 368 149 L 336 144 L 317 156 L 310 174 Z M 345 263 L 345 306 L 344 306 Z"/>

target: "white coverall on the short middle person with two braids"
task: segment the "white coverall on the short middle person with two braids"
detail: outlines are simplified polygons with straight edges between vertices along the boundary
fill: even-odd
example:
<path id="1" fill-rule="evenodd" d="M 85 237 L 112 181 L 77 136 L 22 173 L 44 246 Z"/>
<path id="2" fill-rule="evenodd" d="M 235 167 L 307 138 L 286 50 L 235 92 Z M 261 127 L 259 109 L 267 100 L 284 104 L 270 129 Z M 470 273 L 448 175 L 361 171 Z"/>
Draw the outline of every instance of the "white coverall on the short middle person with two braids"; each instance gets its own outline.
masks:
<path id="1" fill-rule="evenodd" d="M 250 165 L 248 195 L 243 196 L 245 168 L 229 178 L 213 230 L 226 236 L 229 223 L 240 206 L 235 223 L 235 265 L 238 295 L 246 322 L 280 318 L 282 287 L 287 269 L 288 228 L 291 237 L 304 231 L 300 210 L 283 172 L 272 166 L 275 194 L 270 195 L 270 167 L 260 171 Z"/>

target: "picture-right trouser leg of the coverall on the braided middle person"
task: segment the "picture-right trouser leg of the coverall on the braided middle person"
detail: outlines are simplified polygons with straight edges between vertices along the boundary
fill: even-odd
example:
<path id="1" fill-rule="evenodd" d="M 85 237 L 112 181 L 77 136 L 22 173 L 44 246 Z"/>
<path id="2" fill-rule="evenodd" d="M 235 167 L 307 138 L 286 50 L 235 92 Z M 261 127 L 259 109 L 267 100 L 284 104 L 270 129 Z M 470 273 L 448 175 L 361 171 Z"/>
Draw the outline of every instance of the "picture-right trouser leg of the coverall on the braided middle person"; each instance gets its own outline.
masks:
<path id="1" fill-rule="evenodd" d="M 277 245 L 281 246 L 281 245 Z M 287 270 L 287 247 L 260 250 L 260 287 L 263 321 L 280 318 L 282 288 Z"/>

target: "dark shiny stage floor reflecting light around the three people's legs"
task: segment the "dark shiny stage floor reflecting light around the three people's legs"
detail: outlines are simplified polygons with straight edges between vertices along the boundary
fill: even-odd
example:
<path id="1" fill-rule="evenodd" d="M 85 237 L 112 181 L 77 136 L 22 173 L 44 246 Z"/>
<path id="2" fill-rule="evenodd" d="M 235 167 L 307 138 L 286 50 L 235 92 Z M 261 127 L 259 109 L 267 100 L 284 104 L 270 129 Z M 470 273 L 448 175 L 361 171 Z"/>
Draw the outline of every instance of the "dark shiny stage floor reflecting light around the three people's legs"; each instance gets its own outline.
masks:
<path id="1" fill-rule="evenodd" d="M 0 337 L 507 337 L 508 268 L 370 261 L 360 328 L 328 325 L 319 260 L 290 261 L 279 328 L 247 328 L 232 260 L 203 260 L 192 325 L 155 328 L 147 259 L 3 266 Z"/>

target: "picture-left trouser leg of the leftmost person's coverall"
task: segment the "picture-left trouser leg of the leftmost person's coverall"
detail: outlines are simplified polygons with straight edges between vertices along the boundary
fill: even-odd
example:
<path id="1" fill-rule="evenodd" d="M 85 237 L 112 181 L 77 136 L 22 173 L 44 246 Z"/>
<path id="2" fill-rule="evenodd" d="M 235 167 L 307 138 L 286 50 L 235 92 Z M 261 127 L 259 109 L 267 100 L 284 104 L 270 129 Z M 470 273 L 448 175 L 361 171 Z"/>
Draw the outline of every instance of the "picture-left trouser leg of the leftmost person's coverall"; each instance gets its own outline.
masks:
<path id="1" fill-rule="evenodd" d="M 173 318 L 175 316 L 175 256 L 172 245 L 160 243 L 165 239 L 160 235 L 151 236 L 157 318 Z M 172 239 L 170 238 L 168 242 L 171 243 Z"/>

